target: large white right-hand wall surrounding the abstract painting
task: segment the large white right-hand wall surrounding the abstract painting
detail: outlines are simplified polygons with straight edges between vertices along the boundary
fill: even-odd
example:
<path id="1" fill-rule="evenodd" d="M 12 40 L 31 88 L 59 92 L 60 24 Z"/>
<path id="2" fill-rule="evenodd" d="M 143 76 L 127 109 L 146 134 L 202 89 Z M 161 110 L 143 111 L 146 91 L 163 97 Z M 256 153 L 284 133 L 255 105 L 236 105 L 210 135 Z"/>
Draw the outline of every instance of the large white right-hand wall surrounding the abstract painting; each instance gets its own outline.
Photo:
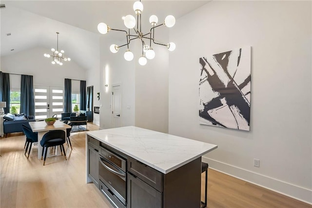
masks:
<path id="1" fill-rule="evenodd" d="M 176 21 L 169 59 L 169 133 L 218 145 L 204 158 L 211 167 L 309 203 L 311 4 L 212 1 Z M 243 46 L 252 46 L 251 130 L 199 125 L 199 58 Z"/>

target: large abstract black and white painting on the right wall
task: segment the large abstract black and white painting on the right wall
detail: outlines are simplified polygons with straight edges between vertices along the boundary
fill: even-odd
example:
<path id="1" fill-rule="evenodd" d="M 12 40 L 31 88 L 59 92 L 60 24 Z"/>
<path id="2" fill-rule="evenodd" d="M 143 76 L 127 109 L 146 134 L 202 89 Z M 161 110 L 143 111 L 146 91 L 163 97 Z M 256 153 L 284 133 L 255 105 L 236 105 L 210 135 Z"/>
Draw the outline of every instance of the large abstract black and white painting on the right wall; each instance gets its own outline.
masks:
<path id="1" fill-rule="evenodd" d="M 251 47 L 199 59 L 199 123 L 250 130 Z"/>

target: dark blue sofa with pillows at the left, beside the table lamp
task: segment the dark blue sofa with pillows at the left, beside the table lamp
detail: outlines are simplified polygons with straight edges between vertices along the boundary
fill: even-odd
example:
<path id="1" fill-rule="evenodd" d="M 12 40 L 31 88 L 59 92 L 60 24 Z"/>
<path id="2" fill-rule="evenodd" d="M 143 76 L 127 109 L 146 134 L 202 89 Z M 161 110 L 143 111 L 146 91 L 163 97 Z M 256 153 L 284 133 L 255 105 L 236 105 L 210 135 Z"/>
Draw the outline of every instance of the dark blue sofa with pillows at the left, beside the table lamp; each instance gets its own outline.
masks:
<path id="1" fill-rule="evenodd" d="M 10 115 L 6 115 L 7 117 L 12 117 Z M 5 135 L 5 137 L 8 136 L 9 133 L 16 133 L 16 132 L 22 132 L 22 124 L 25 125 L 29 125 L 29 122 L 35 122 L 36 120 L 34 119 L 34 116 L 26 116 L 25 120 L 13 120 L 13 121 L 9 121 L 6 120 L 5 117 L 3 117 L 4 121 L 3 121 L 3 133 Z M 29 126 L 30 127 L 30 126 Z"/>

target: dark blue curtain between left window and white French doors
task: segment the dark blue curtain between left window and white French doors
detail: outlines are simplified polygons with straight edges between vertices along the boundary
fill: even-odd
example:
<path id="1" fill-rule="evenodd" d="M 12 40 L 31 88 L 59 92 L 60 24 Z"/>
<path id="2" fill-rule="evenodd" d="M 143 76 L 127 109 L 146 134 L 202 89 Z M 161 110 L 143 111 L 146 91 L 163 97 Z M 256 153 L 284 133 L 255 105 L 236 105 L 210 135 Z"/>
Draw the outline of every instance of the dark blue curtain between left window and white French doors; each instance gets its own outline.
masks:
<path id="1" fill-rule="evenodd" d="M 29 116 L 35 115 L 35 99 L 33 76 L 21 75 L 20 77 L 20 113 Z"/>

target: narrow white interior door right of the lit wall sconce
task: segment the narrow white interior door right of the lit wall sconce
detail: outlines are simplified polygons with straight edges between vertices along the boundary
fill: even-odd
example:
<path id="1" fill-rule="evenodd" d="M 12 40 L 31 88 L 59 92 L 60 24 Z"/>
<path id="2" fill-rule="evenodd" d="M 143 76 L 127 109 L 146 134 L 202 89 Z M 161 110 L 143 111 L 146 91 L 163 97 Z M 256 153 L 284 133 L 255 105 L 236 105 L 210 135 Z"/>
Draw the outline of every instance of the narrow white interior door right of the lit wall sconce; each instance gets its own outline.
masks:
<path id="1" fill-rule="evenodd" d="M 121 87 L 113 86 L 112 91 L 112 125 L 113 128 L 121 126 Z"/>

